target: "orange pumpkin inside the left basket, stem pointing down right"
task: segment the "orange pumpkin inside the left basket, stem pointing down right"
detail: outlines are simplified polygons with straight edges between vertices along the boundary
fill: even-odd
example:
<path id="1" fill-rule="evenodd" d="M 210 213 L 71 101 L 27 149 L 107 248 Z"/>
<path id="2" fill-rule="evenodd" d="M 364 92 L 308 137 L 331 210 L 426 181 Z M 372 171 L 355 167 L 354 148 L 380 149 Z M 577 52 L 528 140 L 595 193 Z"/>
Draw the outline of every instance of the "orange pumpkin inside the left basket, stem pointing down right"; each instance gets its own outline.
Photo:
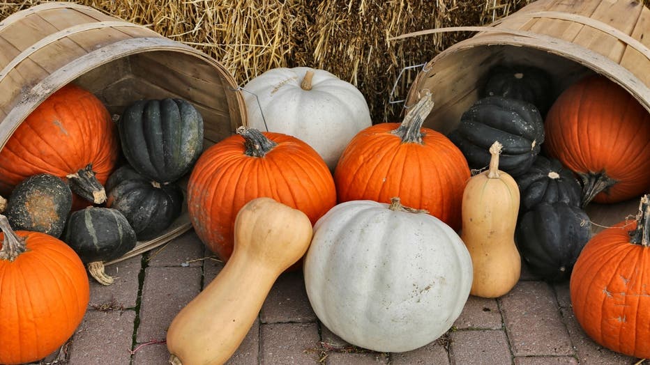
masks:
<path id="1" fill-rule="evenodd" d="M 89 91 L 68 84 L 40 103 L 0 151 L 0 194 L 10 194 L 29 176 L 49 173 L 68 179 L 73 208 L 84 206 L 79 196 L 103 203 L 102 185 L 118 156 L 118 134 L 107 109 Z"/>

